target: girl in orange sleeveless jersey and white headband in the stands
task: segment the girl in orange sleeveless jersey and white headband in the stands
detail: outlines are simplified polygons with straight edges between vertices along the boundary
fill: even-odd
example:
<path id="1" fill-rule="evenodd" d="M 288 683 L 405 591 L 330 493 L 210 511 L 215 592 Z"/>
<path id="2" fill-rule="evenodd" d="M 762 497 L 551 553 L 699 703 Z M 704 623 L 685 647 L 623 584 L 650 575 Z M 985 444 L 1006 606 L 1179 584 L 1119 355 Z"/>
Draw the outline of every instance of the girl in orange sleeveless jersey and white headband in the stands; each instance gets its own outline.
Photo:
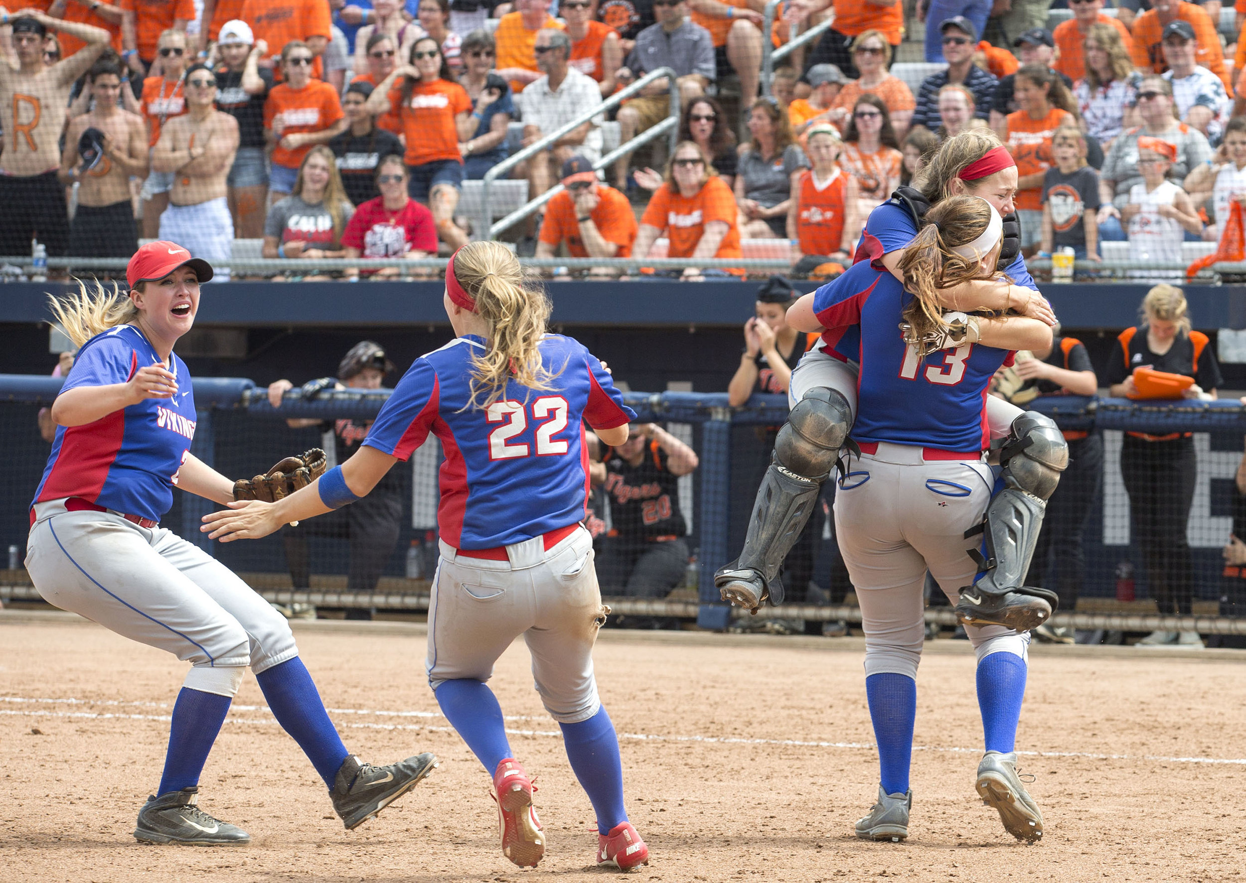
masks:
<path id="1" fill-rule="evenodd" d="M 787 207 L 787 238 L 791 240 L 791 259 L 799 267 L 819 267 L 830 258 L 847 262 L 856 239 L 857 220 L 856 179 L 845 174 L 836 162 L 844 143 L 839 130 L 821 123 L 809 130 L 809 161 L 812 169 L 801 169 L 792 176 Z M 811 257 L 812 255 L 812 257 Z"/>

